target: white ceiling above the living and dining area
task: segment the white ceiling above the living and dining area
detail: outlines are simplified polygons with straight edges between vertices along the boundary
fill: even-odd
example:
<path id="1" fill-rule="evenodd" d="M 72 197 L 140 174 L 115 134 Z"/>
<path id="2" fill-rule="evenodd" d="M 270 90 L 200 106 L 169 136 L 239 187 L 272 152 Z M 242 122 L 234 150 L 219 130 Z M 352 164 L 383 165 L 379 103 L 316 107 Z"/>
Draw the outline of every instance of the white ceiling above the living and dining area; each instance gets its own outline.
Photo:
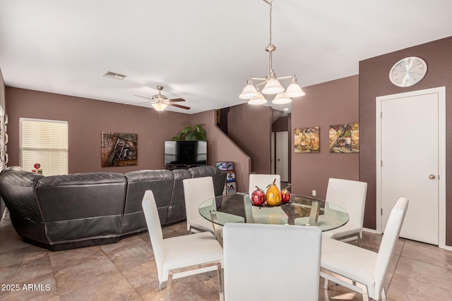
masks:
<path id="1" fill-rule="evenodd" d="M 451 11 L 450 0 L 275 0 L 273 69 L 302 87 L 357 75 L 361 60 L 452 36 Z M 163 85 L 191 107 L 167 110 L 198 113 L 245 103 L 246 79 L 268 74 L 268 43 L 262 0 L 0 0 L 9 87 L 130 104 Z"/>

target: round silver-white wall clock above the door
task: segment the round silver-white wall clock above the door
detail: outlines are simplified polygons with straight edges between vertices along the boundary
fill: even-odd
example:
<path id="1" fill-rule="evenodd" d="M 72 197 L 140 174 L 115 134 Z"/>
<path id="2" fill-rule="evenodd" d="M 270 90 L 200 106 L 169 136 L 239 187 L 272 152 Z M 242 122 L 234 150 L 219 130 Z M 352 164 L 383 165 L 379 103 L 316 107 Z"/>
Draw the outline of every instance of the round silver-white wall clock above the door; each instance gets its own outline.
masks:
<path id="1" fill-rule="evenodd" d="M 417 56 L 401 59 L 389 71 L 389 79 L 398 87 L 410 87 L 420 82 L 427 73 L 427 63 Z"/>

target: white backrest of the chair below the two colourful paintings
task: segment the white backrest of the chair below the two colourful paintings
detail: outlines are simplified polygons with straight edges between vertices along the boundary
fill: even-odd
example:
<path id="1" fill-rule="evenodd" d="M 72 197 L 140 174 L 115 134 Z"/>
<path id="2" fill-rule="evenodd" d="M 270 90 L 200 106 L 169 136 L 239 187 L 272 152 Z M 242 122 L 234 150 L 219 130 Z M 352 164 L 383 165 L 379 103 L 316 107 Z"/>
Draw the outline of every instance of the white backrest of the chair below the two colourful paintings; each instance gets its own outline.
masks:
<path id="1" fill-rule="evenodd" d="M 350 216 L 350 223 L 362 226 L 366 193 L 367 183 L 365 182 L 330 178 L 325 199 L 345 209 Z"/>

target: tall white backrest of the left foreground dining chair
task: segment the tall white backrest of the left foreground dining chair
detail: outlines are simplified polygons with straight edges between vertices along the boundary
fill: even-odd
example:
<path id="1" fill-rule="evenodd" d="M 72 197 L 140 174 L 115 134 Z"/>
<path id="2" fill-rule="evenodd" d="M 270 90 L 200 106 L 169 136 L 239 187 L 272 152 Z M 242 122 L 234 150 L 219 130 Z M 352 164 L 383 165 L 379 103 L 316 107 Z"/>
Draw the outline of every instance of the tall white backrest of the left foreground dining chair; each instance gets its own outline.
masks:
<path id="1" fill-rule="evenodd" d="M 163 276 L 163 262 L 165 260 L 163 249 L 163 234 L 162 226 L 160 226 L 157 204 L 155 204 L 155 198 L 151 190 L 145 191 L 141 206 L 143 207 L 146 224 L 148 225 L 150 243 L 153 247 L 155 264 L 157 266 L 158 281 L 162 283 L 166 280 Z"/>

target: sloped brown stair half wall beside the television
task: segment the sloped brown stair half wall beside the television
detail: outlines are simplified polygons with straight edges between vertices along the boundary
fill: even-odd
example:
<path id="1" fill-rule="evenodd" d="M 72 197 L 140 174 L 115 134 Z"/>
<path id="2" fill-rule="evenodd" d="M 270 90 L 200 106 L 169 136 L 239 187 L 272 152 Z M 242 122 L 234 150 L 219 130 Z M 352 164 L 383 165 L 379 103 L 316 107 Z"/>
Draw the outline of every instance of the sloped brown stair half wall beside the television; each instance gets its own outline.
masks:
<path id="1" fill-rule="evenodd" d="M 234 162 L 234 172 L 237 181 L 237 191 L 247 192 L 249 173 L 251 171 L 251 159 L 242 149 L 237 147 L 225 133 L 216 126 L 216 112 L 206 111 L 191 115 L 191 123 L 203 123 L 207 131 L 208 140 L 208 165 L 217 162 Z"/>

